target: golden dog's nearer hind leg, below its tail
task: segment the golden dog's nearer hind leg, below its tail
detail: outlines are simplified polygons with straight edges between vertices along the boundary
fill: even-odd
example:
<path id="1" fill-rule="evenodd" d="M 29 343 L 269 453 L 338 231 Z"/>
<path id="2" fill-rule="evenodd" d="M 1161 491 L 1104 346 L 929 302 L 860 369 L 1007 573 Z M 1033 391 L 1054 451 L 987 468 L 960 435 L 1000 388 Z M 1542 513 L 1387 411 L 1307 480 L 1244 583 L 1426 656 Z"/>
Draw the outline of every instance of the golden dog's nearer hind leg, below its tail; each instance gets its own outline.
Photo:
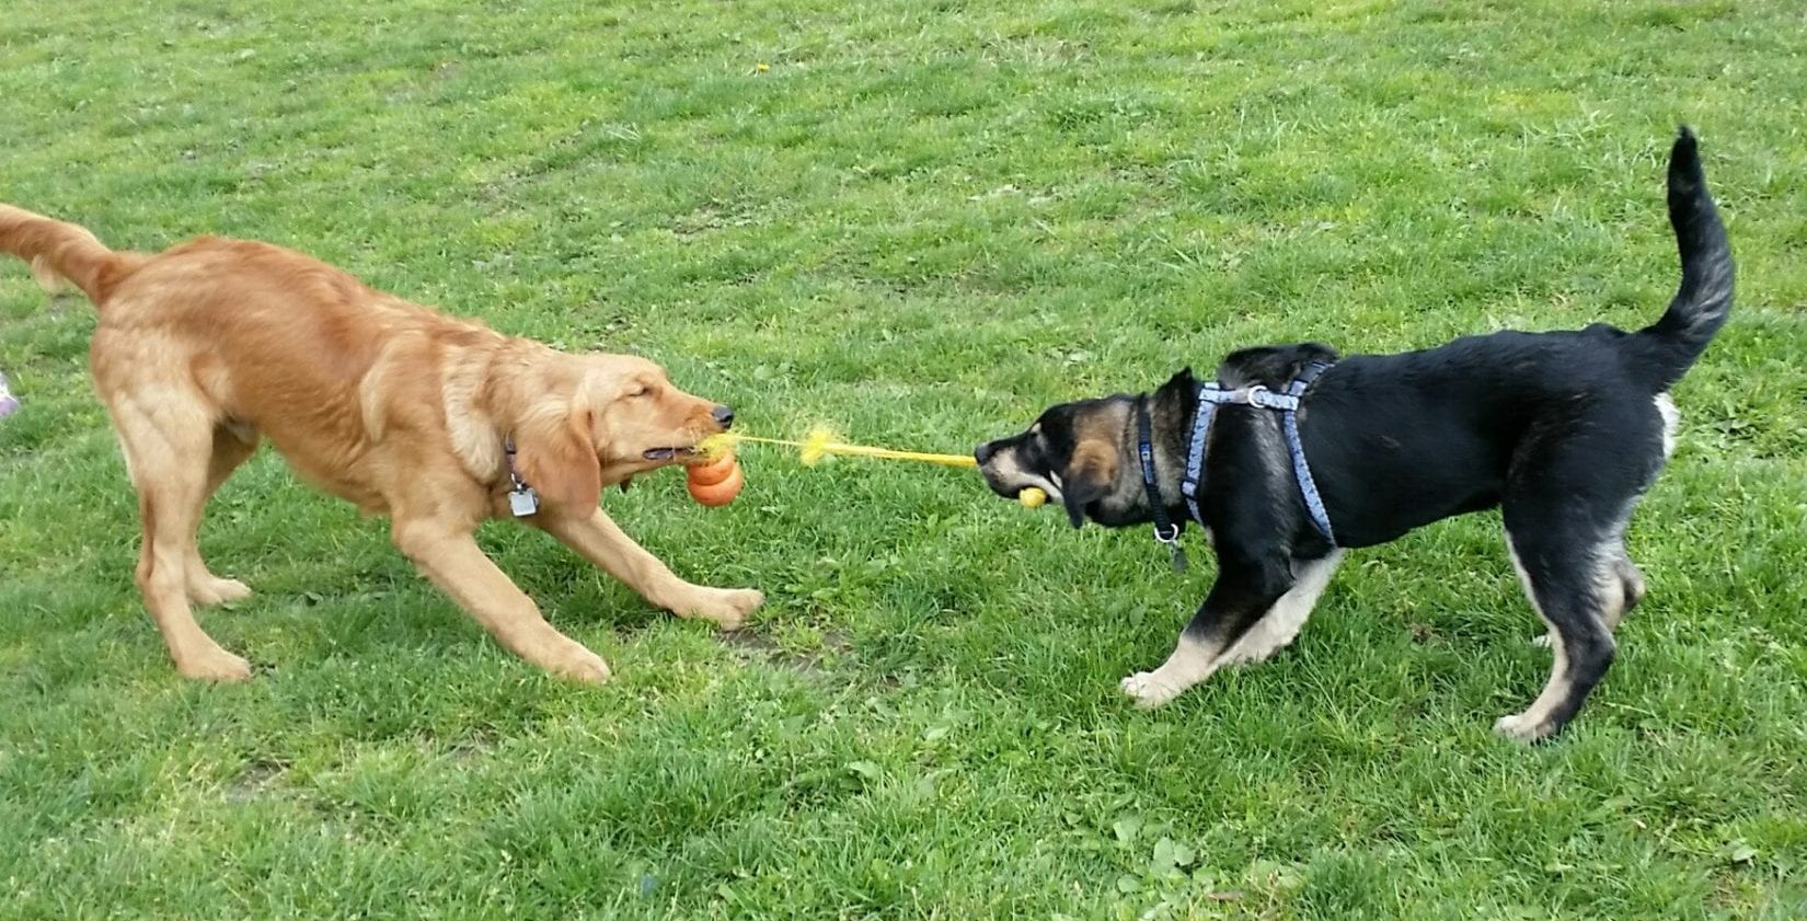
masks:
<path id="1" fill-rule="evenodd" d="M 220 648 L 188 607 L 190 567 L 201 560 L 195 531 L 208 498 L 202 459 L 213 439 L 204 403 L 179 386 L 141 386 L 105 395 L 145 526 L 137 587 L 163 630 L 175 670 L 208 681 L 251 677 L 251 665 Z"/>

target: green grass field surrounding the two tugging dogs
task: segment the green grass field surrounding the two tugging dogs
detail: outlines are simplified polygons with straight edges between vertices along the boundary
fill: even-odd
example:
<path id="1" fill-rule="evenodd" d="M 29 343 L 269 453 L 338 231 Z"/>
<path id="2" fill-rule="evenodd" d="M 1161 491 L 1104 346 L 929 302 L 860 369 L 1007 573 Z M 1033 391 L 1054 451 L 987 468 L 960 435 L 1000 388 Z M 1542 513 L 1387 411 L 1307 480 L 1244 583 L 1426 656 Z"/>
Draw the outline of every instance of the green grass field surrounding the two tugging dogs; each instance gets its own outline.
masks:
<path id="1" fill-rule="evenodd" d="M 1352 556 L 1299 643 L 1144 713 L 1211 580 L 978 477 L 748 448 L 611 513 L 770 601 L 723 637 L 484 544 L 616 670 L 511 659 L 260 455 L 177 679 L 87 385 L 0 274 L 5 917 L 1807 914 L 1807 18 L 1784 2 L 14 4 L 0 200 L 295 246 L 759 433 L 967 450 L 1231 347 L 1639 325 L 1700 130 L 1740 267 L 1632 526 L 1652 596 L 1554 744 L 1496 515 Z M 1194 553 L 1194 558 L 1203 558 Z"/>

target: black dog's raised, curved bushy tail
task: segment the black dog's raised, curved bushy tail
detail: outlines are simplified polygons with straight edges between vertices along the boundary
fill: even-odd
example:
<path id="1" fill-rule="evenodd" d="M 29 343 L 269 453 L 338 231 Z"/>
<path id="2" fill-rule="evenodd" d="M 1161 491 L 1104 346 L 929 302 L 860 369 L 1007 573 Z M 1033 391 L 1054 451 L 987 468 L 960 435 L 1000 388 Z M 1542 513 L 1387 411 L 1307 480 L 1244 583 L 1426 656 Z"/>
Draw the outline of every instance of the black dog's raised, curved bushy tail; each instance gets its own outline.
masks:
<path id="1" fill-rule="evenodd" d="M 1682 126 L 1670 154 L 1670 224 L 1682 255 L 1682 285 L 1655 323 L 1630 336 L 1635 374 L 1668 390 L 1693 367 L 1731 314 L 1731 246 L 1706 190 L 1695 135 Z"/>

